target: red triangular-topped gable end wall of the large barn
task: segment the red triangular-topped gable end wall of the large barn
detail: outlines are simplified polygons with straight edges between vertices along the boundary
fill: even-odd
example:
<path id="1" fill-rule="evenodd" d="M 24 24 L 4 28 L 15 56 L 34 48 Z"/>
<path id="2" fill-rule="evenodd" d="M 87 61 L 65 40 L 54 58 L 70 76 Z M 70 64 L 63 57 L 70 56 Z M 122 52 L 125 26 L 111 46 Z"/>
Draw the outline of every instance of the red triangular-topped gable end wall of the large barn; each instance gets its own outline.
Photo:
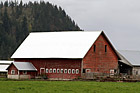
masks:
<path id="1" fill-rule="evenodd" d="M 96 45 L 95 51 L 94 45 Z M 107 52 L 105 52 L 105 45 L 107 45 Z M 111 69 L 118 68 L 118 57 L 103 34 L 98 37 L 85 55 L 83 68 L 96 73 L 110 73 Z"/>

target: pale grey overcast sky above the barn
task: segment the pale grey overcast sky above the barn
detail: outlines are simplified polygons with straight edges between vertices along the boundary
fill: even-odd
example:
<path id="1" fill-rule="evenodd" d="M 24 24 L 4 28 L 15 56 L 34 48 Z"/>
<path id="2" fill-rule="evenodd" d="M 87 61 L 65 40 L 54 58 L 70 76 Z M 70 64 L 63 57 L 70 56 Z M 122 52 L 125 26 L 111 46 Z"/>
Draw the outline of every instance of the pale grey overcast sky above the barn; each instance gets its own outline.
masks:
<path id="1" fill-rule="evenodd" d="M 84 31 L 103 30 L 116 49 L 140 51 L 140 0 L 44 1 L 61 6 Z"/>

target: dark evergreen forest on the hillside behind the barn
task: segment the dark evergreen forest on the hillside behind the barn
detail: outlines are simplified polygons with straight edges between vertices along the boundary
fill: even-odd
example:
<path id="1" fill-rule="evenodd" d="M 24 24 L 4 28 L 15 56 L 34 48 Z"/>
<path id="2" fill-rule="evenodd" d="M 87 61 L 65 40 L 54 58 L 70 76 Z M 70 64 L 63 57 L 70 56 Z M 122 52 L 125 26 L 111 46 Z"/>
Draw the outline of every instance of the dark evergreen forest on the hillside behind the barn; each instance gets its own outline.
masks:
<path id="1" fill-rule="evenodd" d="M 1 2 L 0 59 L 10 60 L 30 32 L 80 30 L 64 9 L 49 2 Z"/>

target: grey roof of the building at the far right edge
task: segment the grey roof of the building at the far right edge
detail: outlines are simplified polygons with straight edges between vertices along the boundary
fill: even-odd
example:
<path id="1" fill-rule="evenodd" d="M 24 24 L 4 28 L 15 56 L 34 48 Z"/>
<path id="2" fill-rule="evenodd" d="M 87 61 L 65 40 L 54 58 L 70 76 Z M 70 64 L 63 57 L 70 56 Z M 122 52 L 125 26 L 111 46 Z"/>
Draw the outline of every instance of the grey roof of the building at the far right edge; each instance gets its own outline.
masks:
<path id="1" fill-rule="evenodd" d="M 140 66 L 140 51 L 118 50 L 133 66 Z"/>

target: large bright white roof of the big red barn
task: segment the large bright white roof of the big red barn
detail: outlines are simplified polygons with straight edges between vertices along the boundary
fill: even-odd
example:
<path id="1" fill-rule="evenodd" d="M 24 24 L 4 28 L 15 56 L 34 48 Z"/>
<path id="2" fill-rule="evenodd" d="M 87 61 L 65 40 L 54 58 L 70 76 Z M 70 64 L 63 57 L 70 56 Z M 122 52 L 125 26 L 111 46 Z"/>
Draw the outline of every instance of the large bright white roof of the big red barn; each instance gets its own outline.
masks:
<path id="1" fill-rule="evenodd" d="M 30 33 L 11 58 L 83 58 L 101 32 Z"/>

